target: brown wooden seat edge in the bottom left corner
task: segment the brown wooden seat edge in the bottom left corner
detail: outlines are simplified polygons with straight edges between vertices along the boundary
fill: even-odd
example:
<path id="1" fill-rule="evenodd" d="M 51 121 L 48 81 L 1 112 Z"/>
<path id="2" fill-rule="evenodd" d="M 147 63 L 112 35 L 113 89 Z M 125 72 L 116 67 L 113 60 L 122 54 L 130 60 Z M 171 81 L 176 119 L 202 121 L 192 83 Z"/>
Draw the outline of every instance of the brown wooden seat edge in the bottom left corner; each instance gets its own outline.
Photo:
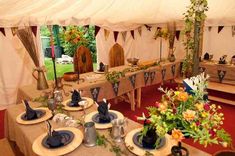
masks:
<path id="1" fill-rule="evenodd" d="M 4 156 L 15 156 L 11 145 L 6 138 L 0 140 L 0 153 Z"/>

